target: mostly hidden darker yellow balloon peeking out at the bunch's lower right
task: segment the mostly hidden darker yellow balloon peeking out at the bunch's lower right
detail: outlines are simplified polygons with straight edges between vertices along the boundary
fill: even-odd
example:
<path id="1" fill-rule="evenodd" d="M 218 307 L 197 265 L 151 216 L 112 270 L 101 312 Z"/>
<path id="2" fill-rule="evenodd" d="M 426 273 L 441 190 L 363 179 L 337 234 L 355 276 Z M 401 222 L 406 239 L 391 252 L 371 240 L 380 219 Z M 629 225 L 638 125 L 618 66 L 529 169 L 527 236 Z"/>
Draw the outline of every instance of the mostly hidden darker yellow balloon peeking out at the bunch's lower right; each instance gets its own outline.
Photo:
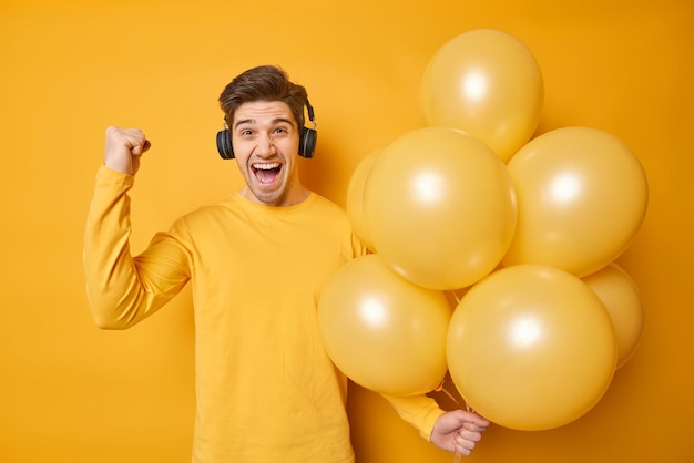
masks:
<path id="1" fill-rule="evenodd" d="M 616 368 L 632 358 L 643 332 L 643 301 L 641 291 L 631 276 L 616 264 L 583 278 L 600 297 L 612 317 L 618 341 Z"/>

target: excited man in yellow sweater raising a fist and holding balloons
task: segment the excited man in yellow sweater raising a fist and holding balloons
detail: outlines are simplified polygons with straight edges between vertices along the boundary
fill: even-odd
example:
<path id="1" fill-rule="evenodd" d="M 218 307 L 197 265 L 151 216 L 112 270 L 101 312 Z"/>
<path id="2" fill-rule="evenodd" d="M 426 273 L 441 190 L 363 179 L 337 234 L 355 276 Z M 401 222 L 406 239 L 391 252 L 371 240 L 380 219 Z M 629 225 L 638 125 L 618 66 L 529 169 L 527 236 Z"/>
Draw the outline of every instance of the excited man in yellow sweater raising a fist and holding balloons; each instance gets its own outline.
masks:
<path id="1" fill-rule="evenodd" d="M 245 186 L 183 216 L 136 257 L 127 192 L 150 142 L 140 130 L 108 128 L 85 233 L 90 310 L 100 328 L 129 328 L 191 282 L 194 462 L 353 462 L 347 379 L 320 344 L 315 312 L 333 271 L 365 248 L 344 210 L 299 178 L 299 151 L 310 150 L 306 90 L 259 66 L 220 102 Z M 426 397 L 387 399 L 445 450 L 469 454 L 489 424 Z"/>

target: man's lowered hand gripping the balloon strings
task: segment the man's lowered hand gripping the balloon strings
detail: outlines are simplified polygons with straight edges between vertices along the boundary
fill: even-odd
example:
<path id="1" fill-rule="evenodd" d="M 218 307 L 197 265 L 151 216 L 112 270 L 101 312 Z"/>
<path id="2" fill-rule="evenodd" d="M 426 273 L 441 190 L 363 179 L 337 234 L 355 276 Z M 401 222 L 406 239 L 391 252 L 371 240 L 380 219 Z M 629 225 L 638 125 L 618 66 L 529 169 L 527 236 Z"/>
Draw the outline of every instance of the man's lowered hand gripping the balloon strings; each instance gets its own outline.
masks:
<path id="1" fill-rule="evenodd" d="M 443 413 L 433 424 L 431 443 L 449 452 L 470 455 L 474 445 L 482 439 L 489 421 L 477 413 L 453 410 Z"/>

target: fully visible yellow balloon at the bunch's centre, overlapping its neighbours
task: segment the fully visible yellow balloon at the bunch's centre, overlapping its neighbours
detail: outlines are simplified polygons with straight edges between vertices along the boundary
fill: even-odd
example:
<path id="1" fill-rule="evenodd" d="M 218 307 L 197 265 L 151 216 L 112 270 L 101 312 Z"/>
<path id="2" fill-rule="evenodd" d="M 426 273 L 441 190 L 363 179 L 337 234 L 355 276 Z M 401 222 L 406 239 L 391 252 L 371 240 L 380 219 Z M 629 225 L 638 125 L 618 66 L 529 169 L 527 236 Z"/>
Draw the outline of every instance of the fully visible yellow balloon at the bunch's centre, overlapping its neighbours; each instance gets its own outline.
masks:
<path id="1" fill-rule="evenodd" d="M 391 269 L 449 290 L 499 264 L 513 236 L 516 196 L 506 165 L 482 142 L 425 127 L 381 151 L 364 191 L 364 216 Z"/>

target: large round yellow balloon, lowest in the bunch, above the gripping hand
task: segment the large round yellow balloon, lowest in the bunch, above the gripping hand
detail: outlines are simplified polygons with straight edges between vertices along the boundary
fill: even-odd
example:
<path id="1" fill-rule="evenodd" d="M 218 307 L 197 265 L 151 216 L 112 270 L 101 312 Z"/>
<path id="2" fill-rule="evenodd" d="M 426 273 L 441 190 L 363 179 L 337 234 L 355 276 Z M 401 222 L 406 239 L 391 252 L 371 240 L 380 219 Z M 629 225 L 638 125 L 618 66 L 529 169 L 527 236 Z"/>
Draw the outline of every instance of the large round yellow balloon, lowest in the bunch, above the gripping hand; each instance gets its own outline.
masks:
<path id="1" fill-rule="evenodd" d="M 610 315 L 581 279 L 519 265 L 463 296 L 447 356 L 470 407 L 500 425 L 539 431 L 591 410 L 612 381 L 618 352 Z"/>

